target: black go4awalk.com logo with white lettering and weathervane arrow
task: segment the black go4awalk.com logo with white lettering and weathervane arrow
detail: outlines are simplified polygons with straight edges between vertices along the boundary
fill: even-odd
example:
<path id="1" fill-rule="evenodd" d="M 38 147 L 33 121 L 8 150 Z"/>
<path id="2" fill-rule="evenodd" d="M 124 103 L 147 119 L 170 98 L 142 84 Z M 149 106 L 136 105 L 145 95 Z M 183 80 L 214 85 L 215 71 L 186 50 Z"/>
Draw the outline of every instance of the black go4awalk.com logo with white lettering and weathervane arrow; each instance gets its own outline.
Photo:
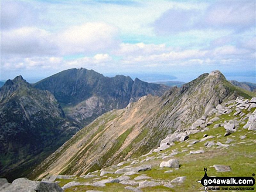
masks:
<path id="1" fill-rule="evenodd" d="M 207 168 L 204 168 L 205 175 L 198 181 L 208 190 L 232 190 L 232 191 L 254 191 L 253 177 L 208 177 Z M 255 174 L 253 174 L 254 176 Z"/>

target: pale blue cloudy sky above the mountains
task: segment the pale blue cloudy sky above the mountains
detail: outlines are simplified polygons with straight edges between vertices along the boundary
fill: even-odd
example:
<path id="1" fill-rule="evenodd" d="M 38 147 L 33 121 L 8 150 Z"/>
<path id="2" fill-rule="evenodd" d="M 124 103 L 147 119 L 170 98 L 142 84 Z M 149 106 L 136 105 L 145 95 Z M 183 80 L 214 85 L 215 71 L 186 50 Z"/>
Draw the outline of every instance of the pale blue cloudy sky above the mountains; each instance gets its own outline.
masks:
<path id="1" fill-rule="evenodd" d="M 1 0 L 0 80 L 70 68 L 256 83 L 255 0 Z"/>

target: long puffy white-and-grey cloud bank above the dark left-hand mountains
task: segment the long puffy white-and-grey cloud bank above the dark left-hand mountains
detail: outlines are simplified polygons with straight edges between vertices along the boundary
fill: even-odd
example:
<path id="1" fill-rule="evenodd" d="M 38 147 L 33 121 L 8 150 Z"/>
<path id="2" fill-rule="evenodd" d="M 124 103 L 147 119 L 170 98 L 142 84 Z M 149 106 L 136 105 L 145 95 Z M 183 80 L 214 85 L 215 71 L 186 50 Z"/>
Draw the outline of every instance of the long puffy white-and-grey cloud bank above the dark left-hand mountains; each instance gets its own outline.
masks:
<path id="1" fill-rule="evenodd" d="M 87 23 L 58 33 L 37 27 L 3 30 L 2 53 L 23 57 L 92 54 L 117 47 L 117 33 L 115 27 L 104 23 Z"/>

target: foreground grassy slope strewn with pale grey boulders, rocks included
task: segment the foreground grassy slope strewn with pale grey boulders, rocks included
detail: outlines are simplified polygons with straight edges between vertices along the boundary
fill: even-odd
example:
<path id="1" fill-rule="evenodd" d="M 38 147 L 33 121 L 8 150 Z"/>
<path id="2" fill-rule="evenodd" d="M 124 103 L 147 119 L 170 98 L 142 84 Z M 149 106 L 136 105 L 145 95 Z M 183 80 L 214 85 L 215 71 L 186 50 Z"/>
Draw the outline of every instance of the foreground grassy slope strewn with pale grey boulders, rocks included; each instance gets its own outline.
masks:
<path id="1" fill-rule="evenodd" d="M 194 122 L 201 122 L 195 129 L 168 135 L 146 155 L 83 176 L 49 175 L 43 182 L 58 182 L 65 192 L 203 192 L 197 181 L 204 176 L 204 168 L 208 176 L 255 178 L 256 98 L 238 97 L 218 104 L 201 120 Z M 246 188 L 236 190 L 230 185 L 228 189 L 217 191 Z"/>

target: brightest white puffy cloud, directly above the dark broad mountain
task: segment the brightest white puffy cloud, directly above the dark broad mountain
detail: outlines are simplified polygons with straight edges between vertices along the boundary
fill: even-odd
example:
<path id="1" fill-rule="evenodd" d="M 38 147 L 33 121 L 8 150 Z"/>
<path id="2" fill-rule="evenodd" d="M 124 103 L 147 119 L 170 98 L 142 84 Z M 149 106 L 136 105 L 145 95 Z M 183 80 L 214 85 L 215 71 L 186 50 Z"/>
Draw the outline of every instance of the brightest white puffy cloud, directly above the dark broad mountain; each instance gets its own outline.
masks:
<path id="1" fill-rule="evenodd" d="M 86 23 L 56 34 L 61 54 L 93 53 L 113 49 L 119 43 L 118 30 L 105 23 Z"/>

